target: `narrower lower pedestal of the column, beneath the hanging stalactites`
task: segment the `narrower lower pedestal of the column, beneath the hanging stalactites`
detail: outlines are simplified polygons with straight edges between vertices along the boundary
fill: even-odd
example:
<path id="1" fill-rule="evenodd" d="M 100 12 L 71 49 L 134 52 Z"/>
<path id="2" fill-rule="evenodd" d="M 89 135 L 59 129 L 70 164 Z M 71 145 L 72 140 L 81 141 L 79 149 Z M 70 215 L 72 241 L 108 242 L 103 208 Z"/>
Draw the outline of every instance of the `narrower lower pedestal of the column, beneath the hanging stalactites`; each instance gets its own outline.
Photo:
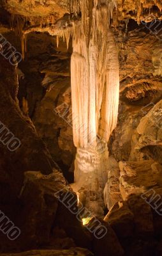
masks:
<path id="1" fill-rule="evenodd" d="M 91 212 L 91 216 L 104 214 L 103 188 L 107 180 L 107 164 L 106 143 L 99 141 L 97 147 L 77 148 L 75 180 L 71 186 L 78 192 L 80 203 Z"/>

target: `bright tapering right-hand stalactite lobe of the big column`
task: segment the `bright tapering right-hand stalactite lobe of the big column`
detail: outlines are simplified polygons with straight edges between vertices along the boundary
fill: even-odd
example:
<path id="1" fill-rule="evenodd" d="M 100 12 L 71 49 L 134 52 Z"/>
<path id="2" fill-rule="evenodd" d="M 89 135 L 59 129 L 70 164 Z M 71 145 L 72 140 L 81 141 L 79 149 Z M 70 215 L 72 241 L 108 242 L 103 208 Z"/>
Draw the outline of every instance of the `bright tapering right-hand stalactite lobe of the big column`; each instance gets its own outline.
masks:
<path id="1" fill-rule="evenodd" d="M 119 104 L 119 61 L 114 36 L 108 30 L 106 83 L 103 90 L 101 118 L 99 122 L 99 136 L 108 141 L 110 134 L 117 124 Z"/>

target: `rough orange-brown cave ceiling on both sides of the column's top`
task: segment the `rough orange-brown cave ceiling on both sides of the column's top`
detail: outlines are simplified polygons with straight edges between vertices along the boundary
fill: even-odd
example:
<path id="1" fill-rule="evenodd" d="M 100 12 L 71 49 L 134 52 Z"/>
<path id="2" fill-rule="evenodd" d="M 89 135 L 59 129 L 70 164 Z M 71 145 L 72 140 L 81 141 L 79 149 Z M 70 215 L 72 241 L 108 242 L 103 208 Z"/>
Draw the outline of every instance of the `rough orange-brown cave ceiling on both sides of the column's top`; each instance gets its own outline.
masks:
<path id="1" fill-rule="evenodd" d="M 58 35 L 61 29 L 71 26 L 71 21 L 80 20 L 79 15 L 73 15 L 73 3 L 76 0 L 1 0 L 0 31 L 19 27 L 24 33 L 47 31 L 50 35 Z M 150 22 L 162 18 L 161 0 L 117 0 L 116 7 L 114 27 L 127 19 L 134 19 L 139 24 L 141 20 Z"/>

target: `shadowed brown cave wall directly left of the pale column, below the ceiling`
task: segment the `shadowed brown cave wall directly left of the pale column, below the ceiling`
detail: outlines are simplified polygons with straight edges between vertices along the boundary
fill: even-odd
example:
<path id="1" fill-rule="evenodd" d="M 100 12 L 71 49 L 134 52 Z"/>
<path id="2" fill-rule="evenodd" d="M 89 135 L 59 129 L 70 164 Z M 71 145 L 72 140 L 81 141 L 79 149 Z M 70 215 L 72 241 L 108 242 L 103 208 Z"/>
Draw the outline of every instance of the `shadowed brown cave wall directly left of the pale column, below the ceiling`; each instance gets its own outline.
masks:
<path id="1" fill-rule="evenodd" d="M 19 79 L 20 108 L 31 118 L 52 159 L 66 170 L 65 175 L 72 182 L 73 175 L 68 176 L 70 167 L 73 171 L 71 164 L 75 156 L 71 118 L 71 50 L 66 49 L 63 41 L 57 48 L 55 38 L 45 34 L 31 33 L 27 42 L 29 51 L 19 66 L 24 73 L 24 79 Z M 20 46 L 17 44 L 17 47 Z M 62 111 L 61 106 L 64 106 Z"/>

